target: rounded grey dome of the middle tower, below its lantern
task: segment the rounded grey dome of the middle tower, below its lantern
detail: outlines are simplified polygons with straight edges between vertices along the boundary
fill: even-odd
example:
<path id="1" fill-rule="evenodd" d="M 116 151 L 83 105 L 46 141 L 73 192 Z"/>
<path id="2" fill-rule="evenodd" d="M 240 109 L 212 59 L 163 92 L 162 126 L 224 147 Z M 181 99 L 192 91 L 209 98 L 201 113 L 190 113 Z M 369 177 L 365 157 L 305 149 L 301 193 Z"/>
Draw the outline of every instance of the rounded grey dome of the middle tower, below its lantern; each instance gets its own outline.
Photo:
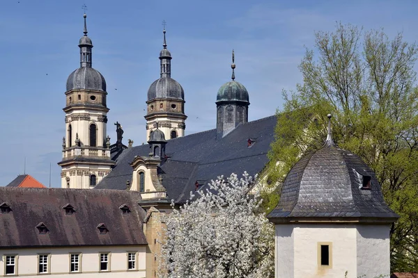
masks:
<path id="1" fill-rule="evenodd" d="M 185 91 L 180 83 L 170 77 L 155 80 L 148 89 L 148 101 L 152 99 L 185 99 Z"/>

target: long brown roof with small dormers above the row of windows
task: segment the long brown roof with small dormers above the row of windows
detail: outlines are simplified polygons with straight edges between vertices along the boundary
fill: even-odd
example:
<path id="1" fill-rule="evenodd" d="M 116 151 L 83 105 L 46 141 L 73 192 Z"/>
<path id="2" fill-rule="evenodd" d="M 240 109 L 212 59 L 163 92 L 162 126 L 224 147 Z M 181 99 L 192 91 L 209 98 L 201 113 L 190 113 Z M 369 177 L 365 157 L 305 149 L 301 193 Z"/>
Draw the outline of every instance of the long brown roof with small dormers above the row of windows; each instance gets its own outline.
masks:
<path id="1" fill-rule="evenodd" d="M 145 245 L 141 195 L 126 190 L 0 187 L 0 248 L 38 246 Z M 4 204 L 6 203 L 6 204 Z M 70 204 L 75 212 L 65 214 Z M 130 213 L 123 214 L 126 204 Z M 44 223 L 46 234 L 36 228 Z M 104 223 L 109 232 L 100 234 Z"/>

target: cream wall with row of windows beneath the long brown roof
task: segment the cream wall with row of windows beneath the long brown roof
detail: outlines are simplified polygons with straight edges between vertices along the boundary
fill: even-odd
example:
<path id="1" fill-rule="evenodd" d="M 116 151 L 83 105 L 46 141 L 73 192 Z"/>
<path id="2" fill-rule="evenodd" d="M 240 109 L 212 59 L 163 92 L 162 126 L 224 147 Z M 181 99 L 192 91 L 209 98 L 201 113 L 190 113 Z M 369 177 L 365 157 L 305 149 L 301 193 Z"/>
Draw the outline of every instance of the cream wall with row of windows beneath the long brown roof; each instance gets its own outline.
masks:
<path id="1" fill-rule="evenodd" d="M 110 270 L 99 271 L 100 252 L 110 252 Z M 137 270 L 127 270 L 127 252 L 137 252 Z M 70 253 L 81 256 L 80 272 L 70 272 Z M 67 247 L 67 248 L 15 248 L 0 249 L 0 277 L 5 275 L 5 254 L 17 254 L 17 275 L 38 277 L 38 254 L 49 256 L 48 277 L 146 277 L 146 246 L 104 246 L 104 247 Z"/>

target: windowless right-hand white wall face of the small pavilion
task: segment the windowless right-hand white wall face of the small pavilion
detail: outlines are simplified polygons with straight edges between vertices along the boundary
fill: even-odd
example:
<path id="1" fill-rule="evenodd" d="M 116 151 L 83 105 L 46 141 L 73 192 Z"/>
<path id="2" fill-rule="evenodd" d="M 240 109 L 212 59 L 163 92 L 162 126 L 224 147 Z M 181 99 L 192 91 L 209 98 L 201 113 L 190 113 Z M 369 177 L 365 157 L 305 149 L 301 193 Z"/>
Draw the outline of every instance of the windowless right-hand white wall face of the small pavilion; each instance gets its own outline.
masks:
<path id="1" fill-rule="evenodd" d="M 357 227 L 357 275 L 390 274 L 389 225 Z M 386 276 L 385 276 L 386 277 Z"/>

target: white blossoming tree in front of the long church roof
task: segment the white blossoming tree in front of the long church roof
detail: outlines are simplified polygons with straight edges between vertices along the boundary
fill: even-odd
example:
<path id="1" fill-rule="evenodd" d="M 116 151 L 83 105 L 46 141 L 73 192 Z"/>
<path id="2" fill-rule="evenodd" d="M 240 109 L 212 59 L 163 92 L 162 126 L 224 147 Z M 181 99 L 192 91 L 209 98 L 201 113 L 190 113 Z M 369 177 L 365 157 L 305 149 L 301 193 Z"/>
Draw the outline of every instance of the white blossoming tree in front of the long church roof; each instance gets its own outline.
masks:
<path id="1" fill-rule="evenodd" d="M 252 184 L 219 177 L 167 215 L 160 277 L 273 277 L 274 230 Z"/>

